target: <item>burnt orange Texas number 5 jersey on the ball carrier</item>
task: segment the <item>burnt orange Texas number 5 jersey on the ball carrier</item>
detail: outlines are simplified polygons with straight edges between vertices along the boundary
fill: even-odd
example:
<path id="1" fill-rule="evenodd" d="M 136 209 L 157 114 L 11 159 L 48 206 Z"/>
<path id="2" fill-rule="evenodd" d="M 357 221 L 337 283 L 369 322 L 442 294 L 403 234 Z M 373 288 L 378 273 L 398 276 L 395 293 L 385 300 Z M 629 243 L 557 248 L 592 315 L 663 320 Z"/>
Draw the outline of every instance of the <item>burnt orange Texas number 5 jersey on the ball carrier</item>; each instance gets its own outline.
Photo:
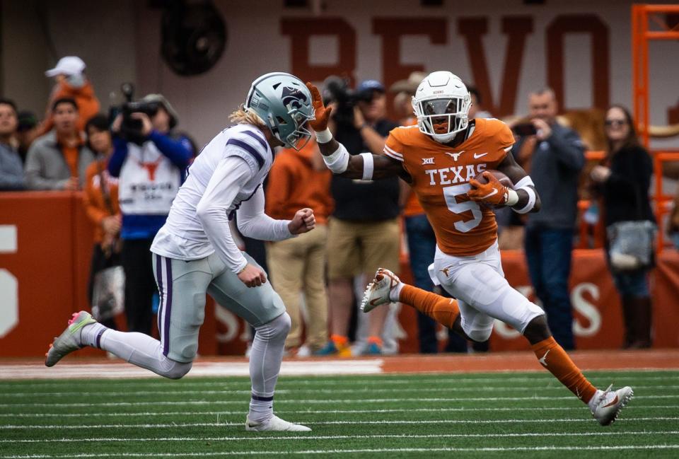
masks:
<path id="1" fill-rule="evenodd" d="M 436 243 L 448 255 L 477 255 L 497 239 L 491 209 L 467 196 L 469 180 L 495 169 L 514 143 L 509 127 L 500 120 L 475 120 L 472 134 L 451 148 L 419 132 L 417 126 L 397 127 L 387 138 L 384 153 L 403 162 Z"/>

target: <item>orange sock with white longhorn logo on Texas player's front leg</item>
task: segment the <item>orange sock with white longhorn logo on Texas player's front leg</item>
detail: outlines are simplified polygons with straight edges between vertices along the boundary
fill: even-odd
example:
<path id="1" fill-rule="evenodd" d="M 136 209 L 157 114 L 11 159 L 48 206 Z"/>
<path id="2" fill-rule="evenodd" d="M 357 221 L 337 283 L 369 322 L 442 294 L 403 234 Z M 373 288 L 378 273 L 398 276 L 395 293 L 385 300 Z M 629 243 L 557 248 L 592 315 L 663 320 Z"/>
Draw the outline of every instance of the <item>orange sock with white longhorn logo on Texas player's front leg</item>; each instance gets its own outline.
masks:
<path id="1" fill-rule="evenodd" d="M 580 368 L 575 366 L 554 337 L 544 339 L 531 347 L 540 364 L 556 376 L 580 400 L 587 403 L 594 396 L 596 388 L 585 378 Z"/>

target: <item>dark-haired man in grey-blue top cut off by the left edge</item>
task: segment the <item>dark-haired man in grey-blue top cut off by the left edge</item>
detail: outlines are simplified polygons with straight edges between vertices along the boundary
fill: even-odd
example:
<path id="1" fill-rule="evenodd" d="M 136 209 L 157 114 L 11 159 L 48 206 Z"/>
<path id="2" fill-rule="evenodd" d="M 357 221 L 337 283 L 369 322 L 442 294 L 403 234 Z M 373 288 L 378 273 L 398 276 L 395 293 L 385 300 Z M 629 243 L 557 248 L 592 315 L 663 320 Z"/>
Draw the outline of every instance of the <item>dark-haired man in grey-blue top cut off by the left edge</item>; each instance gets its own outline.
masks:
<path id="1" fill-rule="evenodd" d="M 16 148 L 16 104 L 0 98 L 0 191 L 24 188 L 23 164 Z"/>

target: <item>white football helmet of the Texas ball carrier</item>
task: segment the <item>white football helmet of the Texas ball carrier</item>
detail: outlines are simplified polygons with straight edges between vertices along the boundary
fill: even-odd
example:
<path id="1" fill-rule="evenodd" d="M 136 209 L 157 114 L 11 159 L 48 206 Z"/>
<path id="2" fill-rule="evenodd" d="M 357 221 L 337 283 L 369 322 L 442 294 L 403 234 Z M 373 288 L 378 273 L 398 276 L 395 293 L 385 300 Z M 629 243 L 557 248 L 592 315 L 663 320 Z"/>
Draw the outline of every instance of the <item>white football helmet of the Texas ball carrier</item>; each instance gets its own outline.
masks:
<path id="1" fill-rule="evenodd" d="M 434 71 L 417 86 L 412 108 L 420 132 L 441 144 L 467 129 L 472 98 L 467 86 L 449 71 Z"/>

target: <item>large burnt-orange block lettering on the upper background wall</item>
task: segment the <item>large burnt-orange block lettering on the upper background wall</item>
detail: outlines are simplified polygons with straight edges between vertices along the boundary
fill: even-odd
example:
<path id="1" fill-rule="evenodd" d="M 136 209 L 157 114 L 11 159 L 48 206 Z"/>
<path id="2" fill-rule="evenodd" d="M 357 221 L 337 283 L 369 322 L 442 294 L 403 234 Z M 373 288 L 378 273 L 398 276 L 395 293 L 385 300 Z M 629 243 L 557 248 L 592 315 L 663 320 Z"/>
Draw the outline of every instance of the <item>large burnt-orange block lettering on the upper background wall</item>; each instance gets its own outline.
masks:
<path id="1" fill-rule="evenodd" d="M 499 97 L 494 97 L 487 56 L 483 45 L 484 35 L 489 33 L 490 16 L 461 17 L 457 20 L 458 35 L 463 37 L 468 66 L 455 64 L 452 71 L 471 69 L 472 81 L 479 89 L 484 108 L 495 116 L 512 115 L 523 107 L 517 106 L 519 77 L 524 64 L 526 42 L 529 35 L 542 33 L 545 42 L 547 85 L 552 86 L 557 99 L 564 100 L 564 75 L 566 59 L 564 39 L 569 34 L 587 34 L 590 37 L 591 54 L 591 100 L 594 107 L 606 108 L 610 102 L 610 50 L 609 29 L 601 18 L 594 14 L 568 14 L 557 16 L 544 32 L 534 30 L 532 16 L 502 16 L 501 33 L 506 35 L 504 67 L 495 80 L 501 81 Z M 371 21 L 371 33 L 381 37 L 381 79 L 386 87 L 395 81 L 407 79 L 412 71 L 434 71 L 425 69 L 423 64 L 404 64 L 401 56 L 401 39 L 405 36 L 422 35 L 429 38 L 431 45 L 448 43 L 448 18 L 440 17 L 376 17 Z M 343 18 L 282 18 L 281 33 L 291 37 L 291 72 L 303 80 L 323 81 L 329 75 L 348 76 L 355 83 L 357 47 L 356 30 Z M 338 61 L 335 65 L 313 65 L 310 62 L 310 40 L 313 36 L 332 35 L 337 37 Z M 542 38 L 542 37 L 538 37 Z M 423 50 L 426 52 L 426 50 Z M 451 57 L 450 62 L 458 61 Z M 542 83 L 542 84 L 545 84 Z M 540 82 L 535 82 L 540 86 Z M 518 101 L 521 104 L 521 101 Z"/>

